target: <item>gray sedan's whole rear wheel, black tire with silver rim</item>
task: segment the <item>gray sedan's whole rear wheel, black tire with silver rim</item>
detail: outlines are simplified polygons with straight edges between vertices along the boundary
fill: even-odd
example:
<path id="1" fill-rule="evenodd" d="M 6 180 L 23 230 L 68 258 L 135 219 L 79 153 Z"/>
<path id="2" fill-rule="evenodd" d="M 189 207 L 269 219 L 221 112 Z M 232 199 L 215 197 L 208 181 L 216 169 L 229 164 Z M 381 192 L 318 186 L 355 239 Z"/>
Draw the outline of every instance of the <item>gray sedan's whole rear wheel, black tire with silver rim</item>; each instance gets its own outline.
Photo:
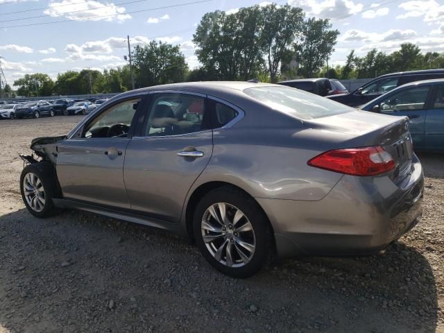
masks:
<path id="1" fill-rule="evenodd" d="M 234 278 L 254 275 L 275 252 L 266 214 L 254 198 L 234 187 L 214 189 L 200 200 L 193 232 L 205 259 Z"/>

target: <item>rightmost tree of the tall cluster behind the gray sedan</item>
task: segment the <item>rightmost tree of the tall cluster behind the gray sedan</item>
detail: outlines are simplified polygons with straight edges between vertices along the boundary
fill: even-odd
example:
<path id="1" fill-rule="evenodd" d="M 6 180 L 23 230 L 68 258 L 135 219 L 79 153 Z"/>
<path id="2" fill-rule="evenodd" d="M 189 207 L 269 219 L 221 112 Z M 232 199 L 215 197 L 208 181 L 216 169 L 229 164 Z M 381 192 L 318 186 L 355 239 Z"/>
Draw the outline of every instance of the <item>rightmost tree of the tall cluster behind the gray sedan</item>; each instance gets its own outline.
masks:
<path id="1" fill-rule="evenodd" d="M 307 19 L 302 25 L 302 35 L 296 44 L 300 72 L 307 78 L 323 67 L 334 51 L 339 31 L 332 30 L 328 19 Z"/>

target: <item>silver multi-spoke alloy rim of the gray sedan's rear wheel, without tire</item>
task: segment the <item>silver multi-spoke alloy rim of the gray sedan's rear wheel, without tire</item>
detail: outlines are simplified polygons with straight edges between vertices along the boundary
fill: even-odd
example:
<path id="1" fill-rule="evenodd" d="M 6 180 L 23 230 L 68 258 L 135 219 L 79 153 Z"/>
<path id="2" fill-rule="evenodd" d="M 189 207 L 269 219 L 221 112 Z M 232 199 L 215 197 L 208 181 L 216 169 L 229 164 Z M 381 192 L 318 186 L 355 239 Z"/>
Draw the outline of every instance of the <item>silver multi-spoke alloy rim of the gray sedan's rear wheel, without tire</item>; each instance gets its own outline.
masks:
<path id="1" fill-rule="evenodd" d="M 215 203 L 208 207 L 203 214 L 200 230 L 207 250 L 225 266 L 245 266 L 255 254 L 253 225 L 233 205 Z"/>

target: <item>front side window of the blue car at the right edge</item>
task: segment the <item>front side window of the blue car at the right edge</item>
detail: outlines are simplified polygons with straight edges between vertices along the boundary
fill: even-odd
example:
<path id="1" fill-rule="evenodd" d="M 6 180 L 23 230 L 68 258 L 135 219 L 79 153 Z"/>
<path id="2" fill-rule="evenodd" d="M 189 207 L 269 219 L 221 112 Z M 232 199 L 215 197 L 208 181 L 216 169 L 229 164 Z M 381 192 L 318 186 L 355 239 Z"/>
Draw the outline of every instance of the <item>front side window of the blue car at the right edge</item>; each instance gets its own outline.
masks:
<path id="1" fill-rule="evenodd" d="M 393 94 L 380 103 L 382 112 L 422 110 L 427 101 L 429 87 L 414 87 Z"/>

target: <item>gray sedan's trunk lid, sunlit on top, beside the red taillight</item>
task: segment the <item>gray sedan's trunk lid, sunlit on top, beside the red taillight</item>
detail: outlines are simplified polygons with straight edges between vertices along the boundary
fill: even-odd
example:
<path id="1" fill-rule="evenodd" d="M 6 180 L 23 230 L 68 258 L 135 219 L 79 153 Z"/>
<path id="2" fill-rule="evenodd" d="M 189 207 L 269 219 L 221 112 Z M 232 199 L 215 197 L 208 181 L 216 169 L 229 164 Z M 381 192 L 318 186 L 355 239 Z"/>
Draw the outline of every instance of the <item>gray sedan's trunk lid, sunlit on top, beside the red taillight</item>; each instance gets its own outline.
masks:
<path id="1" fill-rule="evenodd" d="M 397 167 L 391 172 L 395 182 L 402 181 L 411 172 L 413 144 L 409 119 L 356 110 L 330 117 L 304 121 L 304 126 L 345 135 L 337 148 L 382 146 L 395 160 Z"/>

